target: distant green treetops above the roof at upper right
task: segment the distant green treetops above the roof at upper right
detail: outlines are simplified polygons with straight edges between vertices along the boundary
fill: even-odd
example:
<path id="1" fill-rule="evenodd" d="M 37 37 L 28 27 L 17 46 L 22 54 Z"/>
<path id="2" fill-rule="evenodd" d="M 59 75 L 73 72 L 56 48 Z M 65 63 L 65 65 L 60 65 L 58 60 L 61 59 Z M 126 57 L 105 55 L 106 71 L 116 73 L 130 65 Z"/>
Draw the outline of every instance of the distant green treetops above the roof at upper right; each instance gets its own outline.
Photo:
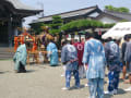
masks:
<path id="1" fill-rule="evenodd" d="M 115 11 L 115 12 L 124 12 L 124 13 L 129 13 L 130 12 L 130 10 L 128 8 L 123 8 L 123 7 L 115 8 L 112 5 L 106 5 L 105 9 L 108 10 L 108 11 Z"/>

